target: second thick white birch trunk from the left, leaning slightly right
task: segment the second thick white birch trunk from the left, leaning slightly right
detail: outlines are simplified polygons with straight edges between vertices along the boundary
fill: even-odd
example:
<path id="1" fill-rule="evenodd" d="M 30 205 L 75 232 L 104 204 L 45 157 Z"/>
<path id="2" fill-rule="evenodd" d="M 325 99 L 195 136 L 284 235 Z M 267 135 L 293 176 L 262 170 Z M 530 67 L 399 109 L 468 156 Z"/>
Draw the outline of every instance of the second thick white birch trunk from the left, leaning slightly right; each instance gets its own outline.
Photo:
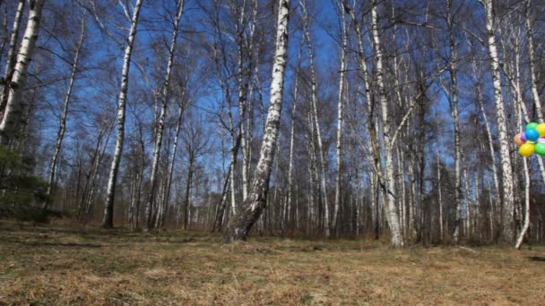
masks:
<path id="1" fill-rule="evenodd" d="M 131 55 L 133 54 L 134 38 L 136 37 L 136 26 L 138 25 L 138 17 L 140 16 L 140 8 L 143 0 L 136 0 L 134 5 L 133 19 L 131 21 L 131 29 L 125 47 L 125 55 L 123 58 L 123 69 L 121 71 L 121 89 L 119 90 L 119 98 L 117 101 L 117 140 L 116 150 L 112 158 L 108 176 L 108 190 L 106 203 L 104 206 L 104 217 L 102 218 L 102 227 L 114 227 L 114 198 L 116 196 L 117 173 L 119 172 L 119 164 L 121 154 L 123 153 L 123 141 L 125 140 L 125 102 L 129 85 L 129 69 L 131 67 Z"/>

